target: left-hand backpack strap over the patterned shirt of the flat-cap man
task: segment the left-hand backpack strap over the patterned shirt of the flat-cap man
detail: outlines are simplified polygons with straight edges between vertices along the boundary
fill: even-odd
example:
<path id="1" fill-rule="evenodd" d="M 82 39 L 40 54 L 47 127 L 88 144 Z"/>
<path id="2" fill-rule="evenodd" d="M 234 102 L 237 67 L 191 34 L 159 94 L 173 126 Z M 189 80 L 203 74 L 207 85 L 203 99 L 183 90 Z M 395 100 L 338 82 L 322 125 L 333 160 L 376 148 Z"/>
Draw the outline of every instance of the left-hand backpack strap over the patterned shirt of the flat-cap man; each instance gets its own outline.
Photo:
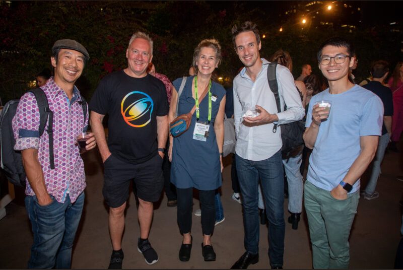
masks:
<path id="1" fill-rule="evenodd" d="M 50 169 L 54 169 L 54 155 L 53 155 L 53 112 L 49 109 L 49 103 L 45 92 L 41 88 L 29 90 L 33 93 L 38 103 L 39 108 L 39 136 L 42 136 L 45 130 L 46 121 L 48 122 L 46 133 L 49 135 L 49 162 Z"/>

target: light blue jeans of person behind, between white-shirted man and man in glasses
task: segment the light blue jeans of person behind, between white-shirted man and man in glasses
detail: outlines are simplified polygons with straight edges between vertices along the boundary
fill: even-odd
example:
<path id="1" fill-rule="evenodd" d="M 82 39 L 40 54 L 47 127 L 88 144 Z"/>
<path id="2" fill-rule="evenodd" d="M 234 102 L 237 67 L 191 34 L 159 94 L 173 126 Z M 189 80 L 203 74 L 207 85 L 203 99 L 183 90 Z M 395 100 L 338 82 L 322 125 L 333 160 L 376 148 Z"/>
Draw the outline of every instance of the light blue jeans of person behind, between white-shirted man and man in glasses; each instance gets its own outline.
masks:
<path id="1" fill-rule="evenodd" d="M 300 172 L 302 153 L 296 157 L 283 159 L 288 183 L 288 210 L 291 213 L 302 212 L 302 194 L 304 183 Z"/>

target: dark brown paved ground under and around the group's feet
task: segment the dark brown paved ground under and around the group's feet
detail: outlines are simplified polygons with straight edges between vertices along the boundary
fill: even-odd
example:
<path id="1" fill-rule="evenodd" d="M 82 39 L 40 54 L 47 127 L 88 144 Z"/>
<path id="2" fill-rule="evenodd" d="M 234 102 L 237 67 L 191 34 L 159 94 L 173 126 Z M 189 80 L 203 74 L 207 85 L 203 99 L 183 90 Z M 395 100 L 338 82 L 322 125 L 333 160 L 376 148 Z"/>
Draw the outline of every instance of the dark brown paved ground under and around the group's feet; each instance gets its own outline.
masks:
<path id="1" fill-rule="evenodd" d="M 400 145 L 403 146 L 402 143 Z M 400 240 L 401 212 L 399 200 L 403 182 L 395 179 L 403 175 L 403 147 L 400 153 L 389 152 L 382 165 L 377 190 L 380 197 L 360 199 L 351 237 L 351 268 L 392 268 L 396 247 Z M 348 150 L 347 150 L 348 151 Z M 84 213 L 73 253 L 73 268 L 106 268 L 112 250 L 107 223 L 107 207 L 102 197 L 102 166 L 96 150 L 84 155 L 87 183 Z M 137 251 L 139 225 L 135 199 L 131 193 L 126 211 L 123 236 L 124 268 L 229 268 L 244 252 L 241 205 L 231 199 L 230 157 L 225 159 L 222 202 L 225 221 L 216 226 L 213 246 L 215 262 L 205 262 L 201 255 L 200 218 L 193 216 L 193 249 L 188 262 L 178 259 L 181 235 L 176 224 L 176 208 L 166 206 L 166 197 L 155 205 L 150 241 L 159 254 L 159 261 L 149 266 Z M 329 164 L 329 166 L 338 166 Z M 363 177 L 363 185 L 367 181 Z M 25 268 L 32 244 L 32 233 L 27 218 L 23 190 L 16 190 L 16 199 L 7 206 L 7 216 L 0 220 L 0 268 Z M 287 199 L 284 206 L 287 211 Z M 194 208 L 198 200 L 194 199 Z M 288 213 L 286 212 L 285 218 Z M 267 228 L 260 225 L 260 260 L 249 268 L 268 268 Z M 307 220 L 304 214 L 298 230 L 286 225 L 284 268 L 311 268 L 311 248 Z"/>

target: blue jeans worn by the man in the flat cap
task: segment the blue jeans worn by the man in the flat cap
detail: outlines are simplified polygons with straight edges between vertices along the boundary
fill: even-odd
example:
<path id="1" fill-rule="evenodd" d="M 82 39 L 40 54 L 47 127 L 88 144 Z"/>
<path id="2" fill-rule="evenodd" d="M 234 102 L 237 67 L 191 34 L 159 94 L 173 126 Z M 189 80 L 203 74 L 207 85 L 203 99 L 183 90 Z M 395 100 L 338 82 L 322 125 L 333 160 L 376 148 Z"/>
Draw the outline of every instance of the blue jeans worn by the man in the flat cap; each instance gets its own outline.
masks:
<path id="1" fill-rule="evenodd" d="M 72 247 L 83 211 L 84 192 L 74 204 L 69 194 L 64 204 L 54 197 L 52 199 L 50 205 L 42 207 L 36 196 L 25 197 L 34 234 L 28 268 L 71 268 Z"/>

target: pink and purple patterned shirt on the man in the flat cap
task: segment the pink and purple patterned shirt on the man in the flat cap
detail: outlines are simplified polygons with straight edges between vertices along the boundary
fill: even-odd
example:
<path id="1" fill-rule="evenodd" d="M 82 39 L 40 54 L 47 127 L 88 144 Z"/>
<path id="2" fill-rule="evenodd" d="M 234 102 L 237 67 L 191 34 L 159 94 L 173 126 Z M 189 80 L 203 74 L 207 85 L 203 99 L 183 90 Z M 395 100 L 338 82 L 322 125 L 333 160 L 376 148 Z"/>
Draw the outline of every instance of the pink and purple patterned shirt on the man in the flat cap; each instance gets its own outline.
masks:
<path id="1" fill-rule="evenodd" d="M 13 131 L 16 139 L 15 150 L 34 148 L 38 150 L 47 191 L 59 203 L 64 203 L 66 193 L 70 193 L 72 203 L 86 187 L 84 163 L 80 156 L 76 137 L 88 125 L 88 110 L 84 121 L 81 96 L 76 87 L 73 98 L 69 101 L 64 91 L 50 78 L 41 87 L 53 112 L 53 147 L 54 165 L 50 169 L 49 136 L 45 131 L 39 138 L 39 109 L 35 96 L 28 92 L 24 94 L 13 118 Z M 25 194 L 35 195 L 27 180 Z"/>

